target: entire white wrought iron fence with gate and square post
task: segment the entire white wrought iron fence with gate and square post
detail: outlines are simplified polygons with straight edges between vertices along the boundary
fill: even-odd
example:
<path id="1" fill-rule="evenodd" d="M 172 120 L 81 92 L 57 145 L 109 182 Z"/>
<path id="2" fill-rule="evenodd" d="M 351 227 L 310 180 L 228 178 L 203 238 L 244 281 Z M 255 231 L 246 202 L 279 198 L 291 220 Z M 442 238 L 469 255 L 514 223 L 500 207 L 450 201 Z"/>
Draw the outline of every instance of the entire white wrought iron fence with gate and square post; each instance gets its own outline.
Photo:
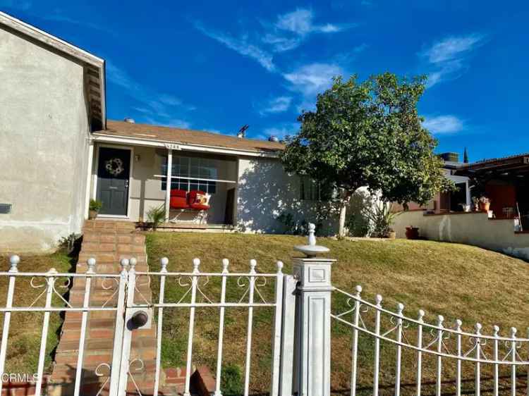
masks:
<path id="1" fill-rule="evenodd" d="M 250 261 L 248 271 L 231 272 L 229 261 L 219 263 L 219 271 L 200 271 L 200 260 L 193 260 L 188 272 L 169 271 L 169 260 L 162 259 L 159 271 L 136 271 L 135 259 L 121 261 L 121 273 L 97 273 L 95 260 L 87 263 L 86 273 L 46 273 L 18 271 L 18 257 L 11 258 L 11 268 L 0 272 L 8 279 L 4 327 L 0 344 L 0 371 L 4 372 L 8 349 L 11 314 L 17 311 L 42 312 L 42 333 L 38 354 L 38 382 L 35 395 L 42 394 L 42 374 L 47 351 L 50 315 L 56 312 L 80 315 L 78 355 L 75 376 L 71 380 L 73 395 L 83 393 L 83 364 L 87 323 L 97 312 L 114 313 L 114 348 L 109 361 L 95 368 L 104 377 L 97 395 L 125 395 L 132 388 L 138 395 L 162 394 L 162 352 L 164 320 L 178 312 L 186 329 L 186 377 L 183 395 L 190 396 L 190 381 L 195 356 L 197 313 L 218 312 L 214 342 L 214 396 L 222 393 L 222 366 L 225 360 L 226 315 L 231 309 L 244 311 L 245 332 L 238 339 L 244 352 L 240 356 L 243 373 L 243 395 L 250 395 L 253 374 L 252 349 L 255 335 L 255 312 L 273 309 L 270 323 L 272 363 L 270 395 L 331 395 L 332 350 L 335 326 L 345 326 L 351 341 L 351 369 L 348 395 L 529 395 L 529 338 L 519 337 L 515 328 L 509 335 L 494 326 L 485 333 L 479 323 L 473 330 L 463 329 L 456 321 L 449 325 L 442 316 L 437 323 L 425 321 L 425 312 L 416 317 L 404 314 L 405 307 L 387 309 L 382 297 L 374 302 L 362 297 L 362 288 L 349 293 L 332 285 L 333 259 L 318 257 L 327 248 L 316 245 L 313 225 L 308 245 L 296 247 L 305 257 L 293 259 L 293 275 L 283 272 L 277 262 L 275 273 L 259 273 L 257 262 Z M 354 271 L 354 268 L 351 268 Z M 13 301 L 20 278 L 30 279 L 37 293 L 26 306 Z M 107 292 L 104 301 L 93 304 L 97 287 Z M 61 289 L 61 290 L 59 290 Z M 82 299 L 65 299 L 63 290 L 81 290 Z M 155 299 L 147 295 L 154 292 Z M 170 316 L 169 316 L 170 317 Z M 241 319 L 243 317 L 243 319 Z M 153 323 L 156 323 L 155 325 Z M 153 328 L 156 339 L 152 388 L 142 388 L 135 379 L 134 365 L 147 366 L 141 357 L 131 354 L 133 332 Z M 350 332 L 350 333 L 349 333 Z M 343 333 L 341 333 L 343 335 Z M 102 369 L 109 370 L 109 376 Z M 406 381 L 404 383 L 403 381 Z M 469 383 L 470 382 L 470 383 Z M 0 391 L 2 384 L 0 383 Z M 130 393 L 128 393 L 130 394 Z M 343 392 L 341 392 L 343 394 Z"/>

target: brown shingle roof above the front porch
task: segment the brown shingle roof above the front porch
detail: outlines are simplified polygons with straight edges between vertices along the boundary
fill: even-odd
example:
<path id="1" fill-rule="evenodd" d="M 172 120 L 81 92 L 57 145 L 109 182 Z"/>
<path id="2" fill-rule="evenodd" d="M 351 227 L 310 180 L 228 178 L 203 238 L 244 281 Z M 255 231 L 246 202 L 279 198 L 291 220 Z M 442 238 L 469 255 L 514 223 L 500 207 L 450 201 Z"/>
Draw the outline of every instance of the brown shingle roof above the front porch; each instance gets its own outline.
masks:
<path id="1" fill-rule="evenodd" d="M 284 144 L 279 142 L 245 138 L 241 139 L 235 136 L 221 135 L 219 133 L 204 132 L 200 130 L 128 123 L 126 121 L 107 120 L 107 129 L 95 133 L 245 151 L 279 151 L 284 149 Z"/>

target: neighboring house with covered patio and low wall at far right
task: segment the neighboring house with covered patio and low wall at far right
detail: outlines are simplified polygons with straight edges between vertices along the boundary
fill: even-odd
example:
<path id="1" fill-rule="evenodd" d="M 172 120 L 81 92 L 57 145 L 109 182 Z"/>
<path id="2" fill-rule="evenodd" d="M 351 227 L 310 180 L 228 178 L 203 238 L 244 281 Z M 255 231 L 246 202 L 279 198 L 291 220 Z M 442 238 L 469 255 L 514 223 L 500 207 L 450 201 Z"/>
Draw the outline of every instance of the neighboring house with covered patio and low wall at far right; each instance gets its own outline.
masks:
<path id="1" fill-rule="evenodd" d="M 529 154 L 457 163 L 451 172 L 468 180 L 473 197 L 489 198 L 490 211 L 404 212 L 396 216 L 397 237 L 404 237 L 406 227 L 413 225 L 430 240 L 466 243 L 529 259 Z"/>

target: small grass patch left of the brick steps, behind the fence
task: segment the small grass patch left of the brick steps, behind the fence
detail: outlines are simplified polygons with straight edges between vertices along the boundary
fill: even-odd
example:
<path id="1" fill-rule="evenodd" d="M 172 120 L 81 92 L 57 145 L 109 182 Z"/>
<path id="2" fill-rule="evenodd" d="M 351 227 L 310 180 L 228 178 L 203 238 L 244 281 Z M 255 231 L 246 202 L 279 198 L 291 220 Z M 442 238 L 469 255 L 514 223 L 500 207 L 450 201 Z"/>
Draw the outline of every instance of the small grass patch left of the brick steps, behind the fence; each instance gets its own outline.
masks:
<path id="1" fill-rule="evenodd" d="M 75 258 L 69 257 L 63 252 L 46 255 L 28 255 L 20 256 L 20 264 L 18 264 L 18 271 L 20 272 L 46 272 L 50 268 L 55 268 L 59 272 L 69 272 L 75 264 Z M 1 271 L 9 269 L 9 257 L 0 256 Z M 61 281 L 63 281 L 61 279 Z M 42 284 L 42 278 L 36 280 L 35 285 Z M 60 283 L 58 284 L 58 286 Z M 8 290 L 8 278 L 6 276 L 0 277 L 0 306 L 5 307 L 6 296 Z M 43 291 L 42 288 L 33 288 L 30 285 L 30 278 L 17 278 L 15 284 L 15 295 L 13 299 L 13 306 L 28 307 L 39 294 Z M 61 290 L 58 287 L 58 290 Z M 66 291 L 66 290 L 64 290 Z M 44 298 L 42 296 L 35 303 L 35 307 L 44 306 Z M 54 296 L 54 304 L 56 306 L 63 305 L 59 301 L 58 296 Z M 42 320 L 44 314 L 42 312 L 23 312 L 17 311 L 11 314 L 11 323 L 9 326 L 8 349 L 6 355 L 6 369 L 5 373 L 36 373 L 39 359 L 40 338 L 42 331 Z M 63 318 L 59 313 L 52 313 L 49 321 L 49 331 L 47 338 L 47 354 L 45 371 L 51 371 L 52 355 L 55 347 L 59 344 L 59 330 Z M 4 315 L 0 314 L 0 323 L 3 326 Z M 0 327 L 1 335 L 2 327 Z"/>

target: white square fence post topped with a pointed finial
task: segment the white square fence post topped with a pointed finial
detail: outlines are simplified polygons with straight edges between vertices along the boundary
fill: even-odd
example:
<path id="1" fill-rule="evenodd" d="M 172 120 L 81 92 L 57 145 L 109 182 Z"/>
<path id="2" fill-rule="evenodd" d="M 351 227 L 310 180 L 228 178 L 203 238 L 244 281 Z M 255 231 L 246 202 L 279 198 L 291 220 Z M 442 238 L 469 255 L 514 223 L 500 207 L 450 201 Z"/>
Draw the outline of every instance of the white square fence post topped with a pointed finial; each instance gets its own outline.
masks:
<path id="1" fill-rule="evenodd" d="M 293 259 L 298 279 L 294 350 L 293 395 L 331 394 L 331 264 L 333 259 L 316 257 L 329 252 L 317 246 L 315 225 L 309 224 L 309 243 L 296 246 L 305 258 Z"/>

